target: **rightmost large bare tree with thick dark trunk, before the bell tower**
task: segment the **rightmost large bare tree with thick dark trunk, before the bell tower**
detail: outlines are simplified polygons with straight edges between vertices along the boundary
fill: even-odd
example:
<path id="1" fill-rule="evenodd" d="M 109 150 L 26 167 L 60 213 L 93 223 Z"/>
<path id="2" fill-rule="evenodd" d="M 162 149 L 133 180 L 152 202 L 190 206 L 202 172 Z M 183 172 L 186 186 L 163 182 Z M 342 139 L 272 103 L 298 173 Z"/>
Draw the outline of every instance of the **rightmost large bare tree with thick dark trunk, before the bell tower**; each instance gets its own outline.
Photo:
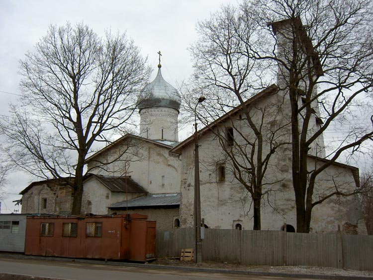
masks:
<path id="1" fill-rule="evenodd" d="M 265 0 L 257 7 L 258 24 L 267 29 L 262 36 L 273 36 L 275 48 L 252 44 L 252 51 L 255 59 L 279 65 L 278 86 L 290 106 L 297 232 L 309 232 L 316 205 L 359 192 L 334 184 L 315 195 L 315 185 L 341 155 L 372 140 L 372 111 L 365 123 L 352 113 L 354 106 L 368 105 L 364 98 L 373 91 L 372 1 Z M 252 15 L 250 4 L 241 8 Z M 323 133 L 333 127 L 347 133 L 334 149 L 325 149 Z M 316 156 L 315 166 L 308 165 L 309 154 Z"/>

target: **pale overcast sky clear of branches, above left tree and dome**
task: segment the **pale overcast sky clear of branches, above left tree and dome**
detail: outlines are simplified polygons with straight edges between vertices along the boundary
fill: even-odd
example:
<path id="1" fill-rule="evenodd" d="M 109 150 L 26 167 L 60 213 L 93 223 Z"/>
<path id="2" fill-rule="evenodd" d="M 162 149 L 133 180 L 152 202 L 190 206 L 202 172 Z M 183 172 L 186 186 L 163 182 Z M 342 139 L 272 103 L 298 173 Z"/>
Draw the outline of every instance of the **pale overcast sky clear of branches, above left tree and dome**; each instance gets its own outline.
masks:
<path id="1" fill-rule="evenodd" d="M 192 71 L 187 47 L 197 39 L 196 22 L 229 2 L 236 0 L 0 0 L 0 114 L 7 115 L 8 103 L 16 101 L 19 93 L 19 59 L 32 51 L 50 24 L 84 21 L 99 35 L 107 29 L 127 32 L 142 55 L 148 56 L 152 78 L 161 51 L 163 77 L 176 86 Z M 20 198 L 15 193 L 30 180 L 20 173 L 9 176 L 1 213 L 20 210 L 11 201 Z"/>

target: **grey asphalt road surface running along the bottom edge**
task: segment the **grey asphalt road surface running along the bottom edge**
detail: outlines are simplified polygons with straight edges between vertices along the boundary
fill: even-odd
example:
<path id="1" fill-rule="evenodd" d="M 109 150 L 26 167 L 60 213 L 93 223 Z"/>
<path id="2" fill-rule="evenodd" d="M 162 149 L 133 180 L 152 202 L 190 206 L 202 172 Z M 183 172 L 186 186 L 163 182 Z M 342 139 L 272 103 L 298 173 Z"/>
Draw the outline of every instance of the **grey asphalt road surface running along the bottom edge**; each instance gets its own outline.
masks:
<path id="1" fill-rule="evenodd" d="M 272 276 L 246 276 L 220 273 L 131 268 L 50 260 L 0 258 L 0 272 L 64 280 L 281 280 Z M 301 280 L 306 278 L 291 278 Z"/>

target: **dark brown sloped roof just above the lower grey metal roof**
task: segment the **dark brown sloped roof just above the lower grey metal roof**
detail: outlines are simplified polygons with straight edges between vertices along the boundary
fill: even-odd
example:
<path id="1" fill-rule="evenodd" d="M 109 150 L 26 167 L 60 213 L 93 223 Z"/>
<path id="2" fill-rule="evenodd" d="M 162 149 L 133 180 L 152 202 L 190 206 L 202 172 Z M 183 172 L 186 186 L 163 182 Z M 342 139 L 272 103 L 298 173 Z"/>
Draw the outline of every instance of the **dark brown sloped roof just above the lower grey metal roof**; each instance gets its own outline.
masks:
<path id="1" fill-rule="evenodd" d="M 88 179 L 95 178 L 102 185 L 112 192 L 129 192 L 129 193 L 147 193 L 144 187 L 141 187 L 130 177 L 102 176 L 90 174 Z M 127 185 L 127 187 L 126 187 Z"/>

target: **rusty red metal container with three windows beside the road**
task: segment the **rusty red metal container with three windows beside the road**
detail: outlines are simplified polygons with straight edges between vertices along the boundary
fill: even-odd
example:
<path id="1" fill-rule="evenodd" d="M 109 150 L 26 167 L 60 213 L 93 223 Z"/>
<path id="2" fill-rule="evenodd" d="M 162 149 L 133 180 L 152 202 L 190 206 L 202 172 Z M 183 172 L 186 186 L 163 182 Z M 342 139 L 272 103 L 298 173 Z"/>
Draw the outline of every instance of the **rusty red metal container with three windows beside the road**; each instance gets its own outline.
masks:
<path id="1" fill-rule="evenodd" d="M 147 261 L 155 221 L 146 215 L 28 216 L 25 255 Z"/>

